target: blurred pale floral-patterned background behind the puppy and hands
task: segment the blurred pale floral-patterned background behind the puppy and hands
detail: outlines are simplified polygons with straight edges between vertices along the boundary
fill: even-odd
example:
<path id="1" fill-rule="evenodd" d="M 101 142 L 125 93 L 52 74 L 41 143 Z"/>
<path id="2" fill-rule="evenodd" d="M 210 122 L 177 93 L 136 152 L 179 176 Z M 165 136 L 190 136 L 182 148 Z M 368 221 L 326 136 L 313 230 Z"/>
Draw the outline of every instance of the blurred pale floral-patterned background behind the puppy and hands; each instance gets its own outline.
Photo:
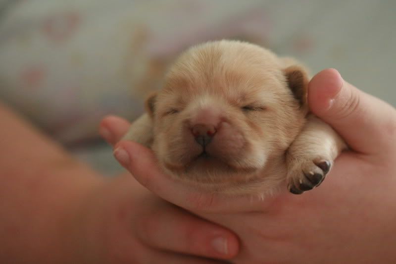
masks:
<path id="1" fill-rule="evenodd" d="M 172 59 L 207 40 L 334 67 L 396 106 L 395 12 L 394 0 L 0 0 L 0 101 L 112 175 L 101 118 L 136 118 Z"/>

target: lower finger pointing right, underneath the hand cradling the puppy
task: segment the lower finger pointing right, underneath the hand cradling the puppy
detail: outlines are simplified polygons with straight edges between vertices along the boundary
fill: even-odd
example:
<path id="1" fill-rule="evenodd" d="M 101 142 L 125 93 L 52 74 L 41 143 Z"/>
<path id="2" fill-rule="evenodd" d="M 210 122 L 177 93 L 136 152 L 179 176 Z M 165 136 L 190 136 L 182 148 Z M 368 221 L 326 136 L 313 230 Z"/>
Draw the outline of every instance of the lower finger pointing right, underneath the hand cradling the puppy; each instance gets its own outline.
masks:
<path id="1" fill-rule="evenodd" d="M 239 249 L 229 230 L 173 205 L 161 204 L 137 223 L 138 237 L 153 248 L 215 259 L 231 259 Z"/>

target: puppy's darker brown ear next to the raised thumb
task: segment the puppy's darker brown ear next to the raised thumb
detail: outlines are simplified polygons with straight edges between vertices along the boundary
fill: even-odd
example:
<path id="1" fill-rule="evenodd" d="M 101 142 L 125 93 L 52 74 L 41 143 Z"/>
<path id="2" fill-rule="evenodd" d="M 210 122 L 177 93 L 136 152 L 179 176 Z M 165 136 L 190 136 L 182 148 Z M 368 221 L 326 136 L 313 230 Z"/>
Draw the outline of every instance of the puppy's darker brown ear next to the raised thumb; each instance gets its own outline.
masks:
<path id="1" fill-rule="evenodd" d="M 286 81 L 301 108 L 307 108 L 308 75 L 299 65 L 287 67 L 285 70 Z"/>

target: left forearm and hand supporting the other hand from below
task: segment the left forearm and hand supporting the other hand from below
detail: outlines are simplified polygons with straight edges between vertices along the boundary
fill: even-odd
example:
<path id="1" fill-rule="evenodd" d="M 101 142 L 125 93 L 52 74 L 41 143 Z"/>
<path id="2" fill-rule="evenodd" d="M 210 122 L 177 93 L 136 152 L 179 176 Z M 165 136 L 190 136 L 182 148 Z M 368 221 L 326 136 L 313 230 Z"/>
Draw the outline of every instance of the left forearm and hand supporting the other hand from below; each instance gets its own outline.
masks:
<path id="1" fill-rule="evenodd" d="M 114 132 L 114 131 L 113 131 Z M 0 104 L 0 263 L 218 263 L 229 230 L 105 178 Z"/>

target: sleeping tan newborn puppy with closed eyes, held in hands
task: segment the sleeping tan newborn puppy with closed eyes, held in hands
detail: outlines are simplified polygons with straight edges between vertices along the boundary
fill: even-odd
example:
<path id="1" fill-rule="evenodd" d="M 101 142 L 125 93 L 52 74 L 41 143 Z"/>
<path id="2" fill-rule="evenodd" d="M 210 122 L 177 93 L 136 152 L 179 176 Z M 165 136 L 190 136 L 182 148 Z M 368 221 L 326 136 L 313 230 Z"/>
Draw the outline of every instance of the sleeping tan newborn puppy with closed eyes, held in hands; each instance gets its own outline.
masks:
<path id="1" fill-rule="evenodd" d="M 124 139 L 150 147 L 168 174 L 209 192 L 318 186 L 345 148 L 308 113 L 308 77 L 293 59 L 239 41 L 190 48 Z"/>

